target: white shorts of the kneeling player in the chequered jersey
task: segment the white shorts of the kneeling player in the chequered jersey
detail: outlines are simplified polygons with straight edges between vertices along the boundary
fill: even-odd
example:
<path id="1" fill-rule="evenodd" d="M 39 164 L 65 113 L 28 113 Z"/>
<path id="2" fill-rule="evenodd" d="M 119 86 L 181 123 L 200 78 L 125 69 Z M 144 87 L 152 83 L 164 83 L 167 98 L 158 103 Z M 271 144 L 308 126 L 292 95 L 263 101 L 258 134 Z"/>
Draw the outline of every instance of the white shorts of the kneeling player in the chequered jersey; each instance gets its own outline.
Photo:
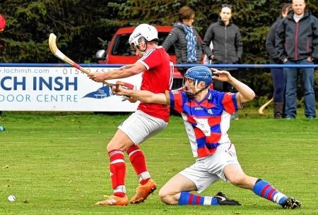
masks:
<path id="1" fill-rule="evenodd" d="M 192 166 L 185 168 L 179 173 L 192 180 L 196 185 L 197 192 L 200 193 L 219 178 L 228 182 L 223 173 L 223 168 L 228 164 L 235 164 L 241 168 L 232 143 L 219 145 L 214 154 L 196 159 Z"/>

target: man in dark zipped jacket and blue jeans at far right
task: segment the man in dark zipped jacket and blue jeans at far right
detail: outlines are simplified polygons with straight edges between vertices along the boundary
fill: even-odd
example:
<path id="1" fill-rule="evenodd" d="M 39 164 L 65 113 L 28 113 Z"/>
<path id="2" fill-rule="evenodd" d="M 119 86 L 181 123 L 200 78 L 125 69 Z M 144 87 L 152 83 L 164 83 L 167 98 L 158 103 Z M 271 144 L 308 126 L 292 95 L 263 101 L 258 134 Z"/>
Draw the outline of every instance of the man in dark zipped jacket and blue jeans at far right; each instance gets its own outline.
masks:
<path id="1" fill-rule="evenodd" d="M 306 10 L 305 0 L 293 0 L 293 11 L 278 25 L 276 48 L 285 65 L 312 65 L 318 58 L 318 19 Z M 297 80 L 302 79 L 305 116 L 316 118 L 314 98 L 314 68 L 283 68 L 286 77 L 285 118 L 297 115 Z"/>

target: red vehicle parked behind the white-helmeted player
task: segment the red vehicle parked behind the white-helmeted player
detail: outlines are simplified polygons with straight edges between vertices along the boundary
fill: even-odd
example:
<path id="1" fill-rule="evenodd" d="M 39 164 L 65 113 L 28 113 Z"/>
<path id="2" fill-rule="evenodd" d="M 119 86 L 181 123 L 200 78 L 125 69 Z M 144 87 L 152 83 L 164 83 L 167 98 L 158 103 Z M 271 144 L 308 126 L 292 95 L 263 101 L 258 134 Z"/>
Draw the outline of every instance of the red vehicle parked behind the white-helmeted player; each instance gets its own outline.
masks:
<path id="1" fill-rule="evenodd" d="M 158 30 L 159 45 L 165 41 L 165 37 L 172 30 L 172 26 L 155 26 Z M 134 31 L 135 27 L 122 27 L 114 33 L 112 40 L 109 42 L 107 51 L 100 50 L 96 53 L 96 58 L 98 63 L 107 63 L 107 64 L 129 64 L 135 63 L 138 59 L 138 56 L 131 50 L 128 39 L 131 33 Z M 167 50 L 167 53 L 170 55 L 170 58 L 173 63 L 176 63 L 175 57 L 175 47 L 170 47 Z M 182 87 L 183 76 L 177 68 L 175 68 L 175 73 L 173 75 L 173 85 L 172 89 L 177 89 Z"/>

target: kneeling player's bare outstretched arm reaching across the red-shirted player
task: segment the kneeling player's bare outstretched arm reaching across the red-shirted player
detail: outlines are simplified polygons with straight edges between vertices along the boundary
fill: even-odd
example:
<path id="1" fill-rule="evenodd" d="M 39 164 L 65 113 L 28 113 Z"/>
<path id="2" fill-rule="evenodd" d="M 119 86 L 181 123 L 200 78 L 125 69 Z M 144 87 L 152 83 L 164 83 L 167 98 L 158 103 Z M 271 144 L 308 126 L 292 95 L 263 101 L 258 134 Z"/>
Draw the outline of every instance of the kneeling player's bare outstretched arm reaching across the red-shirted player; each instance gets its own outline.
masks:
<path id="1" fill-rule="evenodd" d="M 153 93 L 148 90 L 127 90 L 123 87 L 112 87 L 112 93 L 120 96 L 131 97 L 145 103 L 170 105 L 169 92 Z"/>

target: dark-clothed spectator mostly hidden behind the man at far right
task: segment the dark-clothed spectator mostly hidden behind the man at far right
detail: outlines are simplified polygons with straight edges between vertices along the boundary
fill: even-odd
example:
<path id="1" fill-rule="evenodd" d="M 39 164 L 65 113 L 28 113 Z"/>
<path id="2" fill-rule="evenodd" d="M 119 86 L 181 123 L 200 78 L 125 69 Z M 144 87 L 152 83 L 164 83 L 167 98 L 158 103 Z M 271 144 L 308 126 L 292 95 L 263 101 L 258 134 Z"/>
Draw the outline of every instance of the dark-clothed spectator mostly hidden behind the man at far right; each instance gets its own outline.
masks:
<path id="1" fill-rule="evenodd" d="M 266 37 L 266 50 L 269 52 L 269 63 L 281 63 L 277 50 L 275 48 L 275 32 L 282 18 L 291 11 L 291 4 L 283 3 L 281 8 L 281 16 L 271 25 L 269 33 Z M 284 108 L 285 78 L 283 68 L 271 68 L 271 78 L 273 79 L 273 117 L 282 118 Z"/>

